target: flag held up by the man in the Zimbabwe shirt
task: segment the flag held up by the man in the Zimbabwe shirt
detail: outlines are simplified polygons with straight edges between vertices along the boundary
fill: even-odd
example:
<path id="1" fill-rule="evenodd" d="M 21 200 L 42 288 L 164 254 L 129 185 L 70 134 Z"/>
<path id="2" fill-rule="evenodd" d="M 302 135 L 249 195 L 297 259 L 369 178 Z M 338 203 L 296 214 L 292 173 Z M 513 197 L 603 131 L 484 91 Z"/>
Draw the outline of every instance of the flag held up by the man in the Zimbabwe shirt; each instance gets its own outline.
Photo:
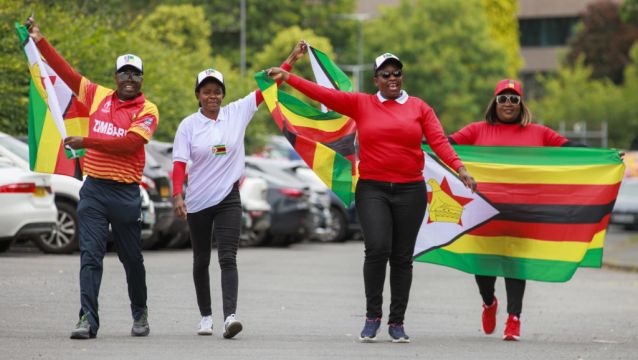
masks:
<path id="1" fill-rule="evenodd" d="M 29 163 L 36 172 L 81 177 L 84 150 L 64 149 L 67 136 L 88 136 L 88 110 L 42 59 L 27 29 L 16 23 L 29 62 Z"/>

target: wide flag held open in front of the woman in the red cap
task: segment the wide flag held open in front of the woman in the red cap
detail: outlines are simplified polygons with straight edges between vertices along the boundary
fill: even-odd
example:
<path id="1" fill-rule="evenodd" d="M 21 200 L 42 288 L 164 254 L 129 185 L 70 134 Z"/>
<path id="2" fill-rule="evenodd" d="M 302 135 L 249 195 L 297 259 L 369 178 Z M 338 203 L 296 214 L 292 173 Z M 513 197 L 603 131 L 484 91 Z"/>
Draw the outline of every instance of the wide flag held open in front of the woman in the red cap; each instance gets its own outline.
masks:
<path id="1" fill-rule="evenodd" d="M 624 173 L 617 151 L 592 148 L 455 146 L 478 183 L 477 199 L 459 185 L 436 194 L 429 179 L 458 179 L 425 148 L 430 206 L 415 260 L 468 273 L 563 282 L 578 267 L 602 265 L 605 229 Z M 443 175 L 434 175 L 442 173 Z M 443 210 L 434 199 L 448 204 Z M 455 201 L 451 201 L 455 200 Z M 440 202 L 440 201 L 439 201 Z M 474 222 L 470 205 L 480 202 Z M 484 203 L 483 203 L 484 202 Z M 476 205 L 474 205 L 476 207 Z M 453 216 L 447 230 L 430 212 Z M 459 215 L 460 214 L 460 215 Z M 454 216 L 461 223 L 455 223 Z M 427 225 L 437 225 L 428 227 Z M 449 230 L 452 229 L 452 230 Z"/>

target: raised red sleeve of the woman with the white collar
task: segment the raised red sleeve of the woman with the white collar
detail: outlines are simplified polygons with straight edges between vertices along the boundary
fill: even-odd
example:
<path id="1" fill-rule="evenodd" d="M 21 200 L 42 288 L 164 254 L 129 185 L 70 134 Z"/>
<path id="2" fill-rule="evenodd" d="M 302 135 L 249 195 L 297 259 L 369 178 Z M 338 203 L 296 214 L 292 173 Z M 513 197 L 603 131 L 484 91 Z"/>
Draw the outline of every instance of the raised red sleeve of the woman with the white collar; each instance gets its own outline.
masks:
<path id="1" fill-rule="evenodd" d="M 358 111 L 359 94 L 335 89 L 328 89 L 312 81 L 290 74 L 286 81 L 290 86 L 301 91 L 309 98 L 319 101 L 339 114 L 355 118 Z"/>

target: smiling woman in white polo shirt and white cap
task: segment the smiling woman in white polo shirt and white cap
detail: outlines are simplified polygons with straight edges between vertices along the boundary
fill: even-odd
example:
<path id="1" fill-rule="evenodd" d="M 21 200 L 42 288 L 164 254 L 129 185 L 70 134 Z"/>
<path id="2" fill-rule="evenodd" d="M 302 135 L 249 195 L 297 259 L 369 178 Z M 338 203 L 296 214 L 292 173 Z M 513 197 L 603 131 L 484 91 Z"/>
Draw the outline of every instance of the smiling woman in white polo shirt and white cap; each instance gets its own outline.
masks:
<path id="1" fill-rule="evenodd" d="M 299 42 L 282 66 L 291 69 L 305 52 L 305 43 Z M 219 71 L 207 69 L 197 75 L 195 97 L 200 108 L 182 120 L 173 144 L 173 198 L 175 212 L 187 218 L 190 228 L 193 279 L 202 316 L 197 333 L 213 333 L 208 266 L 214 236 L 226 319 L 223 336 L 229 339 L 242 330 L 235 313 L 236 256 L 242 215 L 239 179 L 244 173 L 244 134 L 263 96 L 257 90 L 222 106 L 225 95 L 224 77 Z M 192 164 L 184 199 L 182 190 L 188 161 Z"/>

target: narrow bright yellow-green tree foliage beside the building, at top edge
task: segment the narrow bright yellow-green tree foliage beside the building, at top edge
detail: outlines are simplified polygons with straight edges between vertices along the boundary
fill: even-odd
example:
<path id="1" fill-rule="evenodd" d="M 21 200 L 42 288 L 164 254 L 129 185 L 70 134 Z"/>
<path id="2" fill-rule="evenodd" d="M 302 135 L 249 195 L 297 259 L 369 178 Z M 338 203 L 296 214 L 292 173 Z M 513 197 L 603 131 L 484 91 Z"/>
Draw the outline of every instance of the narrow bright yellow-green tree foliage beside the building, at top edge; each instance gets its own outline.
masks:
<path id="1" fill-rule="evenodd" d="M 490 36 L 498 41 L 507 54 L 507 76 L 516 78 L 523 66 L 518 35 L 517 0 L 482 0 Z"/>

